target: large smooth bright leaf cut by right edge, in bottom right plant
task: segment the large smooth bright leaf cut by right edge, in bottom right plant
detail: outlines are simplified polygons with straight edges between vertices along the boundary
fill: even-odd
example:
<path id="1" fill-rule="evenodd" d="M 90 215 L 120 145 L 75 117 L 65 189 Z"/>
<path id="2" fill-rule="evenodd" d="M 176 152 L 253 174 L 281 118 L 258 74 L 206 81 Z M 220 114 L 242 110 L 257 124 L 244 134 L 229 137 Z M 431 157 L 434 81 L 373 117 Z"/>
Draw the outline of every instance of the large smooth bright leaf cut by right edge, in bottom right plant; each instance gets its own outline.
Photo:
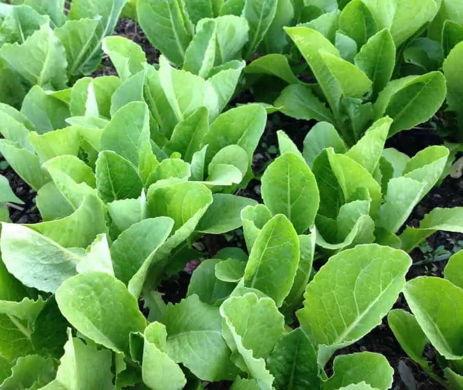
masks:
<path id="1" fill-rule="evenodd" d="M 462 359 L 463 290 L 445 279 L 417 277 L 407 282 L 405 299 L 424 334 L 446 359 Z"/>

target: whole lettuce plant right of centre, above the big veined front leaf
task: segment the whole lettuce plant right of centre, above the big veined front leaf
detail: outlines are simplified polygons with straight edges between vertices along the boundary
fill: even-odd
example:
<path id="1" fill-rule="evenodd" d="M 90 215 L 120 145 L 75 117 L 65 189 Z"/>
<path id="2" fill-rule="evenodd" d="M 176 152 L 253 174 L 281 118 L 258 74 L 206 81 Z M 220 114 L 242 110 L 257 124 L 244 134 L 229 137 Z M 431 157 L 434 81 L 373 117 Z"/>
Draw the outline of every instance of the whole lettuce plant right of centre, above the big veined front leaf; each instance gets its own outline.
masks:
<path id="1" fill-rule="evenodd" d="M 282 213 L 299 234 L 314 224 L 316 244 L 327 253 L 369 243 L 410 252 L 437 230 L 463 231 L 461 208 L 435 209 L 419 228 L 397 235 L 441 177 L 449 151 L 430 146 L 409 158 L 384 149 L 392 124 L 388 117 L 378 120 L 350 149 L 327 122 L 311 129 L 302 152 L 278 132 L 281 156 L 263 174 L 264 205 L 249 218 L 258 226 Z"/>

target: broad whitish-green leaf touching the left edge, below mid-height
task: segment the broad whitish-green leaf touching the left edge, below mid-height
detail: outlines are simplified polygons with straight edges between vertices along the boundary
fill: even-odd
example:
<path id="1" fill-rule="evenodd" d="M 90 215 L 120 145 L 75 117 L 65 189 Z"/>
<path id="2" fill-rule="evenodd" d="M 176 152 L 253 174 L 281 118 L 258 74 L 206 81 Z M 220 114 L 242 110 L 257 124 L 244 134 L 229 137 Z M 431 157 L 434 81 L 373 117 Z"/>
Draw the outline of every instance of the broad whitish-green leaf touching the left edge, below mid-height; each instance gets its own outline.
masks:
<path id="1" fill-rule="evenodd" d="M 16 224 L 2 223 L 0 238 L 2 258 L 25 286 L 55 292 L 76 274 L 80 256 L 63 248 L 48 237 Z"/>

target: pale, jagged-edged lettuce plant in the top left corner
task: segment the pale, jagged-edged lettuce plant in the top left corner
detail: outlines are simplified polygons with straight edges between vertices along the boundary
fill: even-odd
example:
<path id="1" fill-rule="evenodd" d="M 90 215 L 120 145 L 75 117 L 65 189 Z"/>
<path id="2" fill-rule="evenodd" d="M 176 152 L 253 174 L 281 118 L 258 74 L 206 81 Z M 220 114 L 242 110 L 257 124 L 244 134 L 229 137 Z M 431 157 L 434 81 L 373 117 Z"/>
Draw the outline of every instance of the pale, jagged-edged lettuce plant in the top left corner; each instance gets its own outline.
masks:
<path id="1" fill-rule="evenodd" d="M 60 90 L 97 69 L 101 42 L 126 0 L 64 0 L 0 4 L 0 101 L 21 107 L 30 87 Z"/>

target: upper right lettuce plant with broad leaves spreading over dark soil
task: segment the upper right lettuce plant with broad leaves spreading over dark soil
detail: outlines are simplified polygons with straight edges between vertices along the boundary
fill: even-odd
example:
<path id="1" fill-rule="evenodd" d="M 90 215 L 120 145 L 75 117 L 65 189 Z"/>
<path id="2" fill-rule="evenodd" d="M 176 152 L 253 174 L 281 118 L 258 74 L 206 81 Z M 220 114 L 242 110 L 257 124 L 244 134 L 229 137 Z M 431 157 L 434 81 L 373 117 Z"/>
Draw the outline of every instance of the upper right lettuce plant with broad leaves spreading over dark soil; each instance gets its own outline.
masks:
<path id="1" fill-rule="evenodd" d="M 389 136 L 412 128 L 431 118 L 446 97 L 445 79 L 438 71 L 393 77 L 401 47 L 437 13 L 434 0 L 420 2 L 414 22 L 405 23 L 406 10 L 417 3 L 353 0 L 341 12 L 286 28 L 316 84 L 296 78 L 300 66 L 290 67 L 281 54 L 254 61 L 246 72 L 270 74 L 289 84 L 275 107 L 297 119 L 332 123 L 349 146 L 383 116 L 394 119 Z"/>

